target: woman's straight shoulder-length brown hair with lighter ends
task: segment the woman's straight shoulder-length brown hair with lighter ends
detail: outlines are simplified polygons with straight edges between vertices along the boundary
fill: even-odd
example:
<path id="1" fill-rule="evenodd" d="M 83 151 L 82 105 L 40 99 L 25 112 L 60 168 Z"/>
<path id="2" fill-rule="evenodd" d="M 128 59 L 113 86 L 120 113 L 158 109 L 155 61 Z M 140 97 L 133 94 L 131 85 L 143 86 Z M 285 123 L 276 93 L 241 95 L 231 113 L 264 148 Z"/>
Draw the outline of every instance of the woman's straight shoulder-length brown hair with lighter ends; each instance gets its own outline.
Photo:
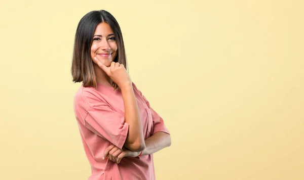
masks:
<path id="1" fill-rule="evenodd" d="M 93 60 L 90 55 L 93 35 L 99 23 L 105 22 L 111 27 L 118 46 L 118 54 L 114 62 L 123 64 L 127 69 L 127 57 L 121 28 L 117 20 L 107 11 L 91 11 L 79 22 L 75 34 L 71 74 L 73 82 L 83 82 L 84 87 L 96 87 L 96 75 Z M 115 82 L 111 84 L 118 88 Z"/>

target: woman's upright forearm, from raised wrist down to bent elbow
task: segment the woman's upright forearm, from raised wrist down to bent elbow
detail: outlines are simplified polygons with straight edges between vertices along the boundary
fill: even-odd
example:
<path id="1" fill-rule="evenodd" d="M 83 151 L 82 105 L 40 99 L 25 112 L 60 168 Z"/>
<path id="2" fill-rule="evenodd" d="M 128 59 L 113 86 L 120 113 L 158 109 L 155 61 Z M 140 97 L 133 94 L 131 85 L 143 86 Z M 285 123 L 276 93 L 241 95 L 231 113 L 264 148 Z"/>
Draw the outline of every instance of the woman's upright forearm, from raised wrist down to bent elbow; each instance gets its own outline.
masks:
<path id="1" fill-rule="evenodd" d="M 142 151 L 145 148 L 145 142 L 139 109 L 133 91 L 132 83 L 121 87 L 121 91 L 125 107 L 125 121 L 129 124 L 125 147 L 131 151 Z"/>

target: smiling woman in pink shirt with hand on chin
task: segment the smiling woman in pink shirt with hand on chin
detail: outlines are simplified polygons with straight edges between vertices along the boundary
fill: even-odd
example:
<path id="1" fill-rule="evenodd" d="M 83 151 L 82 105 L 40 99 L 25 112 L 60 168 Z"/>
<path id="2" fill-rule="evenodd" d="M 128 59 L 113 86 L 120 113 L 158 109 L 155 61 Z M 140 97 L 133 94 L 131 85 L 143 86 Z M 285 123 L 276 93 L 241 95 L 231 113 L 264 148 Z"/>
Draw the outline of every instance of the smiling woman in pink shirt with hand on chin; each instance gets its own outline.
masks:
<path id="1" fill-rule="evenodd" d="M 73 109 L 89 179 L 155 179 L 153 153 L 171 145 L 160 115 L 131 81 L 120 26 L 107 11 L 91 11 L 75 34 L 71 74 L 82 82 Z"/>

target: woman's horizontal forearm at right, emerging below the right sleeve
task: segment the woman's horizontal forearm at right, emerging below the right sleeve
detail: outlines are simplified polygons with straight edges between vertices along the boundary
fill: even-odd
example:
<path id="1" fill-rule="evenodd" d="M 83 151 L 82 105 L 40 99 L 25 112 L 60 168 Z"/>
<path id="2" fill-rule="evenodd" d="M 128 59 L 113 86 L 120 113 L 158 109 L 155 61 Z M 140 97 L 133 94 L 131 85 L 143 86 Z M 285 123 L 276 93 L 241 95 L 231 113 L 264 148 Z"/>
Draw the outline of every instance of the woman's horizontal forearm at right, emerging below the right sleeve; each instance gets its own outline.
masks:
<path id="1" fill-rule="evenodd" d="M 171 136 L 165 132 L 156 132 L 145 140 L 145 149 L 141 155 L 156 153 L 166 147 L 171 146 Z"/>

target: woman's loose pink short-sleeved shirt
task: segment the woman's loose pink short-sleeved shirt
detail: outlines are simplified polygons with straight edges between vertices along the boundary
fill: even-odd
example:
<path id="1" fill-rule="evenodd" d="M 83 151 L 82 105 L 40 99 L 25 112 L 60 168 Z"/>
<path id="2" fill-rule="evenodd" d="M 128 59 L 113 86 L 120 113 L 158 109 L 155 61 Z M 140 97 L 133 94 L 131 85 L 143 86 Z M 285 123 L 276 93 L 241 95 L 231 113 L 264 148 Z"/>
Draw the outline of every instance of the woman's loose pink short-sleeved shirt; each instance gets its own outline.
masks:
<path id="1" fill-rule="evenodd" d="M 169 133 L 160 115 L 132 84 L 144 138 L 158 131 Z M 110 144 L 122 149 L 126 141 L 129 124 L 125 122 L 120 91 L 113 91 L 112 87 L 101 84 L 97 88 L 81 86 L 75 94 L 73 108 L 84 150 L 91 164 L 92 174 L 88 179 L 155 179 L 153 154 L 124 157 L 119 164 L 110 161 L 108 157 L 102 160 L 104 150 Z"/>

